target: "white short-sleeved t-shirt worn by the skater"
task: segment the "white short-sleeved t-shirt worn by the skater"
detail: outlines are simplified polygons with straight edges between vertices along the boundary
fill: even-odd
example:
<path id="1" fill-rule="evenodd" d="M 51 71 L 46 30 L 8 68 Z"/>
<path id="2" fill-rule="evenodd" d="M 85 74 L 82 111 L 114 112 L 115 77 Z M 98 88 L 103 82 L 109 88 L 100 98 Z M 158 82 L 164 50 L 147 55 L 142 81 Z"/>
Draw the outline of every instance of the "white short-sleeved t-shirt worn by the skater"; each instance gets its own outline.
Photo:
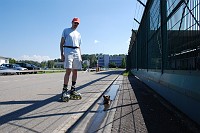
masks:
<path id="1" fill-rule="evenodd" d="M 65 38 L 64 46 L 80 47 L 81 45 L 81 34 L 72 28 L 64 29 L 62 37 Z"/>

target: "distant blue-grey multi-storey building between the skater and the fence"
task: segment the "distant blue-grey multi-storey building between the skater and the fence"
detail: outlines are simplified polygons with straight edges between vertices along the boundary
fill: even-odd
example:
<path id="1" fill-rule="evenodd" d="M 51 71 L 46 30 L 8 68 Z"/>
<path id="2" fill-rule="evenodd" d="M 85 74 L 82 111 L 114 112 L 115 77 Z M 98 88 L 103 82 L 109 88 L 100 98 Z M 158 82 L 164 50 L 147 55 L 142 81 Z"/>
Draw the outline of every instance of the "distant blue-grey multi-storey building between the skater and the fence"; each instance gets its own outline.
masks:
<path id="1" fill-rule="evenodd" d="M 98 57 L 99 67 L 109 67 L 110 63 L 114 63 L 117 67 L 122 65 L 122 59 L 125 58 L 124 55 L 100 55 Z"/>

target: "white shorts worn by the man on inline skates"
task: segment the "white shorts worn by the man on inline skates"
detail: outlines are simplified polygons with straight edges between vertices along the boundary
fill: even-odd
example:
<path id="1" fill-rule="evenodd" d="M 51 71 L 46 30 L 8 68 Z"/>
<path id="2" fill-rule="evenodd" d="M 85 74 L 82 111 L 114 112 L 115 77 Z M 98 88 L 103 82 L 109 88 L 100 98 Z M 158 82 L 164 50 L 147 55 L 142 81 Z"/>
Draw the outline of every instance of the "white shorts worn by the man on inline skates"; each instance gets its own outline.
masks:
<path id="1" fill-rule="evenodd" d="M 79 49 L 65 48 L 64 68 L 82 69 L 82 59 Z"/>

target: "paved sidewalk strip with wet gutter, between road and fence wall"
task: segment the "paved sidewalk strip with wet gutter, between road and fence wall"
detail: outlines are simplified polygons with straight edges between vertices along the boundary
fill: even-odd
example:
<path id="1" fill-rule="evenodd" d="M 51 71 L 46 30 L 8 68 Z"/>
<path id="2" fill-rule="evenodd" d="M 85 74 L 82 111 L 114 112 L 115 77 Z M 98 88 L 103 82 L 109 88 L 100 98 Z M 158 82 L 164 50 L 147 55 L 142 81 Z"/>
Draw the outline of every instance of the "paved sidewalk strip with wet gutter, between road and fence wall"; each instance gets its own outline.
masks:
<path id="1" fill-rule="evenodd" d="M 114 86 L 114 87 L 113 87 Z M 113 90 L 118 86 L 115 97 Z M 112 88 L 113 87 L 113 88 Z M 199 133 L 200 127 L 135 76 L 120 75 L 111 90 L 111 105 L 102 99 L 68 132 L 85 133 Z M 114 92 L 115 94 L 115 92 Z"/>

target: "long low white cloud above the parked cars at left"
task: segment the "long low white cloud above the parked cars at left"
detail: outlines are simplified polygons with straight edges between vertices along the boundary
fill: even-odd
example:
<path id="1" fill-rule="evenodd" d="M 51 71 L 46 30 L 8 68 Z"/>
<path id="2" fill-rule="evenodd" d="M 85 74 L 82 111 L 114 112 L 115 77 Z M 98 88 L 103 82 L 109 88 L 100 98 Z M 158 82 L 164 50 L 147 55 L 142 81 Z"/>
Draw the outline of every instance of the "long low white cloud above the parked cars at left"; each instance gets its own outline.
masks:
<path id="1" fill-rule="evenodd" d="M 53 59 L 51 59 L 49 56 L 41 56 L 41 55 L 29 56 L 29 55 L 23 55 L 23 56 L 21 56 L 19 58 L 19 60 L 32 60 L 32 61 L 42 62 L 42 61 L 48 61 L 48 60 L 53 60 Z"/>

